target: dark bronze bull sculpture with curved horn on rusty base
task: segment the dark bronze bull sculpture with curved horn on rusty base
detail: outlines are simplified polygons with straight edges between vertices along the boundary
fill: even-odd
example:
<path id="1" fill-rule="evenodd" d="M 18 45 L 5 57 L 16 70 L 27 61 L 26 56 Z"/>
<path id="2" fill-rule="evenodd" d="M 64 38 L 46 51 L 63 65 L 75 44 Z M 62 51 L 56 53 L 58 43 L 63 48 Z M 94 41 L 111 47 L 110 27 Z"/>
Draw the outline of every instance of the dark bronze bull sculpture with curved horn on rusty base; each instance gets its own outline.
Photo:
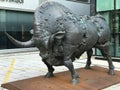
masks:
<path id="1" fill-rule="evenodd" d="M 109 64 L 109 74 L 114 75 L 114 65 L 109 55 L 110 30 L 101 15 L 76 16 L 65 6 L 46 2 L 34 13 L 34 31 L 31 40 L 21 42 L 8 33 L 8 38 L 21 47 L 36 46 L 42 61 L 48 67 L 45 77 L 53 77 L 53 66 L 65 65 L 71 72 L 72 83 L 78 83 L 73 61 L 87 52 L 85 68 L 91 65 L 92 48 L 98 48 Z"/>

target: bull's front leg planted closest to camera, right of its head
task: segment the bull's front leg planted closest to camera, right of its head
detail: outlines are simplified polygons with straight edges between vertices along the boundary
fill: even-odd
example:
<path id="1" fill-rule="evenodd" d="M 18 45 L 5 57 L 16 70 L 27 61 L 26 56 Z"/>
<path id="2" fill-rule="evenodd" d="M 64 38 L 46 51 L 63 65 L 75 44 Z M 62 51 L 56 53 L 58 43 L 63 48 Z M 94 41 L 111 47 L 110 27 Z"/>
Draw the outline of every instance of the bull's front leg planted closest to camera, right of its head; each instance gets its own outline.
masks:
<path id="1" fill-rule="evenodd" d="M 77 84 L 79 82 L 78 80 L 78 74 L 74 69 L 73 63 L 71 59 L 64 59 L 64 65 L 69 69 L 69 71 L 71 72 L 71 76 L 72 76 L 72 84 Z"/>

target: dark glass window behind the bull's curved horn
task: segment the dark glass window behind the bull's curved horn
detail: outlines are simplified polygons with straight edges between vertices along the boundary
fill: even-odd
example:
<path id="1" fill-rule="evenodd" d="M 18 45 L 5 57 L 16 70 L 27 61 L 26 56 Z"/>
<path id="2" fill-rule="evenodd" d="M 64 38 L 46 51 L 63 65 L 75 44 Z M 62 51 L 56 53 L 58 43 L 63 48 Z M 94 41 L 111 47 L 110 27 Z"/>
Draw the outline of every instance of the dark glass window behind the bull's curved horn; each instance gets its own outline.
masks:
<path id="1" fill-rule="evenodd" d="M 17 40 L 29 40 L 32 36 L 30 30 L 33 29 L 33 13 L 0 11 L 0 26 L 0 49 L 18 48 L 5 36 L 4 31 L 7 31 Z"/>

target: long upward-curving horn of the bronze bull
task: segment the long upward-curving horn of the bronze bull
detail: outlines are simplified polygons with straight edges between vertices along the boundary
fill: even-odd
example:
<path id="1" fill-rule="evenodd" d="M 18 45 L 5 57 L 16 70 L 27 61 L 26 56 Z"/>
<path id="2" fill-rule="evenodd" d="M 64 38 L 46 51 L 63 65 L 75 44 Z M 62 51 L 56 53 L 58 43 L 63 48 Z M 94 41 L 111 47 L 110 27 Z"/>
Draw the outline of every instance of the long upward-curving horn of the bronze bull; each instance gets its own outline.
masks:
<path id="1" fill-rule="evenodd" d="M 29 41 L 26 42 L 21 42 L 18 41 L 16 39 L 14 39 L 11 35 L 9 35 L 7 32 L 5 32 L 5 34 L 7 35 L 7 37 L 11 40 L 12 43 L 14 43 L 16 46 L 18 47 L 31 47 L 34 46 L 34 40 L 33 38 L 30 39 Z"/>

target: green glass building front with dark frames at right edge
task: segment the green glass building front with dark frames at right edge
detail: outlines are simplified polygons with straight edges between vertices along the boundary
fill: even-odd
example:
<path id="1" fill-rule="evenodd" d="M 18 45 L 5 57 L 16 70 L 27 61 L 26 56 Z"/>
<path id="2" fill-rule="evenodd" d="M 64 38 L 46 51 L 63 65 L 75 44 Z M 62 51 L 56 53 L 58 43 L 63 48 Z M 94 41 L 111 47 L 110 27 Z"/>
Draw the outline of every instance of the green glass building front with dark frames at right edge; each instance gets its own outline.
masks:
<path id="1" fill-rule="evenodd" d="M 120 57 L 120 0 L 96 0 L 96 13 L 103 15 L 110 26 L 111 56 Z M 96 55 L 101 55 L 99 50 Z"/>

